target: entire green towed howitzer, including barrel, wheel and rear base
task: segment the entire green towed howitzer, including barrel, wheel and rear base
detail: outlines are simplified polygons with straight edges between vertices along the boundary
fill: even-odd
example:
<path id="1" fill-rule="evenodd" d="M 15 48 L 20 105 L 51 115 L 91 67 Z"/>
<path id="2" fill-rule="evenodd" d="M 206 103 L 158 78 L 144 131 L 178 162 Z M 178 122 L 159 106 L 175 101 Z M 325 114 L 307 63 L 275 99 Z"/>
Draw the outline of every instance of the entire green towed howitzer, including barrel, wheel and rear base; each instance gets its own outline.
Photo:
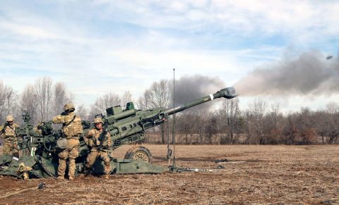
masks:
<path id="1" fill-rule="evenodd" d="M 145 130 L 164 123 L 168 116 L 174 113 L 213 99 L 221 97 L 232 99 L 236 96 L 234 88 L 227 87 L 174 108 L 136 110 L 131 102 L 126 104 L 125 110 L 121 106 L 107 108 L 107 116 L 103 120 L 104 128 L 112 135 L 112 142 L 114 142 L 110 150 L 113 151 L 123 144 L 143 139 Z M 23 156 L 20 156 L 19 159 L 11 155 L 0 156 L 0 175 L 13 175 L 17 178 L 55 178 L 59 151 L 57 139 L 61 137 L 61 132 L 53 132 L 50 121 L 40 125 L 40 132 L 36 132 L 28 122 L 29 117 L 27 115 L 23 117 L 25 125 L 16 130 L 18 138 L 21 139 L 20 148 L 23 149 Z M 93 125 L 88 121 L 83 121 L 82 124 L 83 135 L 93 128 Z M 83 173 L 85 160 L 89 153 L 83 135 L 80 137 L 79 156 L 76 159 L 76 174 Z M 163 173 L 169 171 L 169 168 L 149 163 L 150 156 L 150 151 L 147 148 L 134 147 L 127 151 L 125 159 L 111 159 L 112 173 Z M 102 162 L 96 161 L 92 167 L 92 173 L 103 172 Z"/>

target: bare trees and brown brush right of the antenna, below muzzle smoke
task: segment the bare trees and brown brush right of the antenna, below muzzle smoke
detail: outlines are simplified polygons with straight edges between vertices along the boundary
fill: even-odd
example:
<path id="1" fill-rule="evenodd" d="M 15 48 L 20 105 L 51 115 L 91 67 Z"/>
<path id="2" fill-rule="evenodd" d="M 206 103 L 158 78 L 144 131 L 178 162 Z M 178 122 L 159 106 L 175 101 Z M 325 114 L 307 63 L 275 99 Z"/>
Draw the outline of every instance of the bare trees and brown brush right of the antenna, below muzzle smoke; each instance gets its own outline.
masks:
<path id="1" fill-rule="evenodd" d="M 319 111 L 301 108 L 284 116 L 278 103 L 256 99 L 242 110 L 238 98 L 224 99 L 218 111 L 178 113 L 175 127 L 176 142 L 181 144 L 334 144 L 339 136 L 339 106 L 331 103 Z M 146 142 L 166 142 L 166 129 L 163 135 L 160 129 L 153 132 Z M 159 141 L 153 136 L 157 132 Z"/>

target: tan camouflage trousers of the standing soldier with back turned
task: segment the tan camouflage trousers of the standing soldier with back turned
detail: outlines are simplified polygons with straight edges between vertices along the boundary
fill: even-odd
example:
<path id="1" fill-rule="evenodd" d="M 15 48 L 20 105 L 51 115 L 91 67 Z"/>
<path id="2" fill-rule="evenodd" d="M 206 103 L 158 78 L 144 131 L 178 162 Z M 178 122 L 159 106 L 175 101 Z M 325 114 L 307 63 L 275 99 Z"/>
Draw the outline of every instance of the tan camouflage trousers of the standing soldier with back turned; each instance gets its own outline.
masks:
<path id="1" fill-rule="evenodd" d="M 79 139 L 67 139 L 66 149 L 59 156 L 58 175 L 64 177 L 66 171 L 66 160 L 69 159 L 69 178 L 74 178 L 76 172 L 76 158 L 79 156 Z"/>

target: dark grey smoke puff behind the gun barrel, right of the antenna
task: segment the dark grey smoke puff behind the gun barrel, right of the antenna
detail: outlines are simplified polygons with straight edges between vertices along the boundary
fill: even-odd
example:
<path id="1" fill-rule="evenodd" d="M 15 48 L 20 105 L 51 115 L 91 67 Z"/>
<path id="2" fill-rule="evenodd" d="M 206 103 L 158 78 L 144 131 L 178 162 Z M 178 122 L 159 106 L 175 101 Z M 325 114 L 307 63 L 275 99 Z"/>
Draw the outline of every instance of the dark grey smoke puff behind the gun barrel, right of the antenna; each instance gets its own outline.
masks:
<path id="1" fill-rule="evenodd" d="M 198 98 L 213 94 L 224 88 L 224 82 L 219 77 L 206 77 L 203 75 L 184 76 L 175 81 L 175 104 L 185 104 Z M 172 92 L 172 90 L 171 90 Z M 196 111 L 201 108 L 210 108 L 213 102 L 207 102 L 194 108 Z"/>

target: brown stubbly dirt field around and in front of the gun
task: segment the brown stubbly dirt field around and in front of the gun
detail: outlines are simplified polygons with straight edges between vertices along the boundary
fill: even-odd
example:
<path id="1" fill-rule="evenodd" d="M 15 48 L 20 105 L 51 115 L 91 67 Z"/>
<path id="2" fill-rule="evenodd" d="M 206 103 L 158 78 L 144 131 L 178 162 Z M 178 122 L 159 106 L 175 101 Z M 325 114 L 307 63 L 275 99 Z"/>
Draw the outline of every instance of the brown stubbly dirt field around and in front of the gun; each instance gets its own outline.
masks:
<path id="1" fill-rule="evenodd" d="M 114 155 L 122 158 L 130 146 Z M 148 145 L 153 163 L 167 166 L 166 146 Z M 0 204 L 338 204 L 339 146 L 177 145 L 177 166 L 211 171 L 16 180 L 0 176 Z M 215 163 L 216 159 L 238 161 Z M 225 168 L 217 169 L 221 165 Z"/>

